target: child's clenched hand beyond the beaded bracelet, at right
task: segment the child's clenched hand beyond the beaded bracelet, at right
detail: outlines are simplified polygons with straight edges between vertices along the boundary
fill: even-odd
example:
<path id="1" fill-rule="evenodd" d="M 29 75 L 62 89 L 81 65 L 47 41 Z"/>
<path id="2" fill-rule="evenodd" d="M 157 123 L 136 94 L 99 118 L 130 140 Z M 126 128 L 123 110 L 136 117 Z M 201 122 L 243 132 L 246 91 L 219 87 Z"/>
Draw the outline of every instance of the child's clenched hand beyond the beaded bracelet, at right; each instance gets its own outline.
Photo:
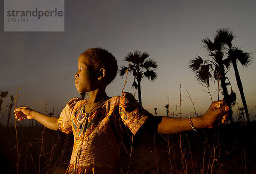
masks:
<path id="1" fill-rule="evenodd" d="M 201 116 L 205 128 L 214 128 L 219 123 L 228 121 L 229 107 L 224 100 L 213 102 L 204 115 Z"/>

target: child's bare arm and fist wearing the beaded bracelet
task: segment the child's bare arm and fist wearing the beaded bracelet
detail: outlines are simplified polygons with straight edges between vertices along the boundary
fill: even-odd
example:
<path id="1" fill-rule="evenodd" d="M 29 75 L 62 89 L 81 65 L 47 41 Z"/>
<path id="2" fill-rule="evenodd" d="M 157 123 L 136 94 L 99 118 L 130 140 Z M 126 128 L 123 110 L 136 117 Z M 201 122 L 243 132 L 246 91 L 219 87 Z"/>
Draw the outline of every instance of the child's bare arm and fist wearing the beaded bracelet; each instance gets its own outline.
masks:
<path id="1" fill-rule="evenodd" d="M 218 123 L 227 121 L 229 107 L 224 100 L 213 102 L 207 112 L 200 117 L 192 117 L 191 121 L 195 128 L 213 128 Z M 188 118 L 163 117 L 159 123 L 157 132 L 162 134 L 174 134 L 192 130 Z"/>

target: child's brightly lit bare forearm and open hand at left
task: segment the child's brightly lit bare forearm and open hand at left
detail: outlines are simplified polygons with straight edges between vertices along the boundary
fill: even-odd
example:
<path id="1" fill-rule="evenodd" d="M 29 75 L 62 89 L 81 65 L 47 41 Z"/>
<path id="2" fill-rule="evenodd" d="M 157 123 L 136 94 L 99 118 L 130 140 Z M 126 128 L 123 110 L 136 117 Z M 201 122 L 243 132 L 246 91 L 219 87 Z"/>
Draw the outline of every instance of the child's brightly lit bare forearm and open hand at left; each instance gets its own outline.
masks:
<path id="1" fill-rule="evenodd" d="M 58 131 L 58 118 L 49 117 L 47 115 L 41 114 L 40 112 L 34 111 L 28 107 L 19 107 L 15 109 L 15 118 L 20 120 L 24 119 L 35 119 L 42 123 L 45 127 L 52 130 Z"/>

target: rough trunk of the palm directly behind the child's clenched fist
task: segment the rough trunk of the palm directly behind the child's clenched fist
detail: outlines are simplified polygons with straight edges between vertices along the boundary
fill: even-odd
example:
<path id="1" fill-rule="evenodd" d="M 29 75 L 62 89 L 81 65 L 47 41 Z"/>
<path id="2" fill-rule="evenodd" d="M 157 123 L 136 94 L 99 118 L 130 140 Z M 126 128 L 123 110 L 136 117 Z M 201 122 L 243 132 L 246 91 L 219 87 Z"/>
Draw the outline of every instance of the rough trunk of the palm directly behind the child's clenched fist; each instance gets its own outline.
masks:
<path id="1" fill-rule="evenodd" d="M 221 72 L 220 72 L 220 80 L 221 80 L 221 88 L 222 88 L 222 91 L 223 91 L 223 95 L 224 95 L 224 99 L 223 100 L 226 100 L 226 101 L 230 101 L 230 95 L 228 94 L 228 91 L 227 91 L 227 85 L 226 85 L 226 76 L 225 76 L 225 73 L 224 73 L 224 69 L 221 68 Z M 230 108 L 230 110 L 228 111 L 228 115 L 229 115 L 229 119 L 230 119 L 230 123 L 234 123 L 233 121 L 233 111 L 232 111 L 232 106 L 231 106 L 231 102 L 227 102 L 227 106 Z"/>

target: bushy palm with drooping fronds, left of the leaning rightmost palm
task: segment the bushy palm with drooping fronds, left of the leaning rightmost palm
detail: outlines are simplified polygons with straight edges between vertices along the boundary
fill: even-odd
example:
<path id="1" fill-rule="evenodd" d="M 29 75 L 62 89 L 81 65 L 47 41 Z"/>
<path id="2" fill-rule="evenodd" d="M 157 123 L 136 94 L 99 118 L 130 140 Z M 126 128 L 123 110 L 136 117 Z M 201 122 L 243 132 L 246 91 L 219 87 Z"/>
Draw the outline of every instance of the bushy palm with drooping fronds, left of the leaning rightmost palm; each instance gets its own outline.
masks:
<path id="1" fill-rule="evenodd" d="M 218 34 L 215 35 L 213 42 L 208 37 L 202 40 L 208 57 L 211 57 L 212 60 L 203 60 L 198 56 L 191 60 L 189 68 L 196 74 L 196 80 L 204 86 L 209 86 L 209 80 L 212 80 L 212 78 L 221 81 L 222 94 L 227 105 L 230 107 L 230 122 L 233 123 L 231 106 L 236 103 L 236 93 L 231 88 L 231 94 L 228 94 L 227 86 L 231 84 L 226 83 L 226 80 L 228 80 L 226 70 L 230 66 L 230 61 L 224 58 L 224 45 L 217 38 Z"/>

